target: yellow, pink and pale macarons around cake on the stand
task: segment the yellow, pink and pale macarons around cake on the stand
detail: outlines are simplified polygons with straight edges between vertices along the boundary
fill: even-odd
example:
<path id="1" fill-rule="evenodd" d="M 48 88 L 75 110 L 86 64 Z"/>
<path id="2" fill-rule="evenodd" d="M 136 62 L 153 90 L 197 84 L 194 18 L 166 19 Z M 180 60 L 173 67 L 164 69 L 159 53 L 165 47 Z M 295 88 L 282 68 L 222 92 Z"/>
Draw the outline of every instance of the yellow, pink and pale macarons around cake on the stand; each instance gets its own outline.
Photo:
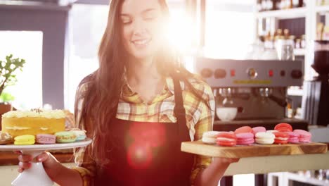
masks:
<path id="1" fill-rule="evenodd" d="M 7 132 L 0 131 L 0 144 L 56 144 L 71 143 L 86 139 L 86 131 L 79 129 L 70 129 L 68 131 L 56 132 L 54 135 L 38 134 L 38 135 L 20 135 L 11 137 Z"/>

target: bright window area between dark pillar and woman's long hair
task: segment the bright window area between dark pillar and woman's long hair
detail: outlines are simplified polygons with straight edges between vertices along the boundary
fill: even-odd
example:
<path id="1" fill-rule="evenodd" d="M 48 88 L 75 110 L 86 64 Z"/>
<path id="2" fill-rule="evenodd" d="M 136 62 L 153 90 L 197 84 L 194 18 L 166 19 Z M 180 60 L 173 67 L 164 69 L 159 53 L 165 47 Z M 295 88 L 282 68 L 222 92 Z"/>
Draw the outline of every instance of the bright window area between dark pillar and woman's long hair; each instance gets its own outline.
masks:
<path id="1" fill-rule="evenodd" d="M 75 4 L 70 13 L 70 58 L 65 69 L 65 108 L 74 110 L 79 82 L 98 68 L 98 45 L 108 20 L 108 6 Z"/>

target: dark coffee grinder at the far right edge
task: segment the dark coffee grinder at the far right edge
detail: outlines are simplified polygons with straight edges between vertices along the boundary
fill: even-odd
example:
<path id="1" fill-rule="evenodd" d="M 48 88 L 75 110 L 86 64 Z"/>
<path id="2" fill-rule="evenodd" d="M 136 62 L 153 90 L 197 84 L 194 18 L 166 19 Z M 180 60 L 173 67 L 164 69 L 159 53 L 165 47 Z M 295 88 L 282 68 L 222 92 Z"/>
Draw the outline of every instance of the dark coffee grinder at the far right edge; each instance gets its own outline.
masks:
<path id="1" fill-rule="evenodd" d="M 304 82 L 303 118 L 314 125 L 329 125 L 329 41 L 314 41 L 311 65 L 318 73 L 314 80 Z"/>

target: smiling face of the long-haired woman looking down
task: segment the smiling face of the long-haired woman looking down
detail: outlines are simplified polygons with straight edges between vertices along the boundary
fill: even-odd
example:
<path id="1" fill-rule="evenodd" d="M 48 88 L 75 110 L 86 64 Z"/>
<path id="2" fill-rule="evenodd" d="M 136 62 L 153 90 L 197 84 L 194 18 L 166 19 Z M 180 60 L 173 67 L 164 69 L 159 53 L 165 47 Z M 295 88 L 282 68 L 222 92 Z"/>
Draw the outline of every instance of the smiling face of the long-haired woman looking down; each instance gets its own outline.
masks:
<path id="1" fill-rule="evenodd" d="M 157 1 L 150 1 L 150 8 L 138 12 L 141 6 L 138 1 L 127 1 L 122 5 L 120 14 L 122 42 L 135 58 L 145 58 L 156 52 L 164 43 L 164 25 L 167 22 Z"/>

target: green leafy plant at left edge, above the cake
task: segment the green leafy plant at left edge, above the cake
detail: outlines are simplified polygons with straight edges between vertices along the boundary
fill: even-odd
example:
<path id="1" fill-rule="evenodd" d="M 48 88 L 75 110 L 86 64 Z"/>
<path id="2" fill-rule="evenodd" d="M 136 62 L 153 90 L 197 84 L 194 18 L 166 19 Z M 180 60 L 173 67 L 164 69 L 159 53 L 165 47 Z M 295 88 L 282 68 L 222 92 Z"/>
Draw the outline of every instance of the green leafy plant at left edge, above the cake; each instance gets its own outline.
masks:
<path id="1" fill-rule="evenodd" d="M 13 55 L 6 56 L 6 61 L 0 60 L 0 95 L 4 92 L 4 89 L 10 85 L 15 85 L 17 78 L 15 75 L 16 70 L 22 71 L 25 64 L 25 59 L 13 58 Z M 4 99 L 13 99 L 13 97 L 7 97 L 1 95 Z"/>

